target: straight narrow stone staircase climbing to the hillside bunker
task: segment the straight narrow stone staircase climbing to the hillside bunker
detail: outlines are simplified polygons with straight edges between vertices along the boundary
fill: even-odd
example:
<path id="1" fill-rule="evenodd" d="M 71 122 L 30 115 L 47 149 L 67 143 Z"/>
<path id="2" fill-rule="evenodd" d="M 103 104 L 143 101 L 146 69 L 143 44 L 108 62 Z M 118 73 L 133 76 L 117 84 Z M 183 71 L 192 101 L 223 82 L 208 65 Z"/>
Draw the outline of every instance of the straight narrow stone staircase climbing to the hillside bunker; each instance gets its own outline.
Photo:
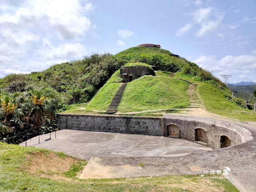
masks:
<path id="1" fill-rule="evenodd" d="M 110 106 L 108 107 L 108 109 L 106 111 L 107 114 L 116 113 L 116 109 L 121 101 L 121 98 L 123 96 L 124 89 L 125 89 L 126 85 L 127 85 L 127 83 L 121 83 L 120 86 L 118 87 L 116 94 L 115 94 L 114 98 L 112 99 Z"/>

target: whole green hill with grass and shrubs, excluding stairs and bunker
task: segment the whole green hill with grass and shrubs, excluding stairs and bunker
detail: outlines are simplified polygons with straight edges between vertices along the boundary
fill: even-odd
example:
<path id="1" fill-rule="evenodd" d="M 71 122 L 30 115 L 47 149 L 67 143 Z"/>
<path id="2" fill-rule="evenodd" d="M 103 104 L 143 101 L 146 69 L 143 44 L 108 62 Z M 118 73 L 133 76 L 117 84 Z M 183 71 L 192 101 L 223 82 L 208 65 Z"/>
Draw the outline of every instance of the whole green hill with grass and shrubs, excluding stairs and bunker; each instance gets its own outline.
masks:
<path id="1" fill-rule="evenodd" d="M 197 92 L 204 109 L 232 119 L 255 120 L 255 114 L 243 108 L 241 99 L 231 101 L 231 91 L 218 78 L 195 63 L 170 54 L 168 50 L 144 47 L 129 48 L 116 55 L 92 54 L 42 72 L 8 75 L 0 79 L 0 90 L 23 92 L 29 85 L 46 86 L 56 92 L 59 102 L 71 104 L 66 113 L 100 112 L 108 108 L 120 85 L 118 69 L 128 63 L 142 62 L 158 66 L 160 71 L 154 77 L 129 83 L 118 106 L 119 112 L 186 108 L 189 104 L 186 83 L 177 79 L 180 77 L 198 84 Z M 172 72 L 176 72 L 174 78 L 170 77 Z"/>

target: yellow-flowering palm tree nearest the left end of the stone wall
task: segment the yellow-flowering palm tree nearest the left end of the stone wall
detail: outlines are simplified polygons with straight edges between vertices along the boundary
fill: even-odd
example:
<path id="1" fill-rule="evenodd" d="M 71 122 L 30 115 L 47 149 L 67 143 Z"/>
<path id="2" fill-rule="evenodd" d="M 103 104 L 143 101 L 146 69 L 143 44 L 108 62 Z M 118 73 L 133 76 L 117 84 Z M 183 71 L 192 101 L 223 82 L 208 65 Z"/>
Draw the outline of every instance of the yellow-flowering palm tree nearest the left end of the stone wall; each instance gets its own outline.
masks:
<path id="1" fill-rule="evenodd" d="M 26 111 L 26 123 L 33 124 L 34 128 L 40 128 L 46 119 L 54 119 L 56 99 L 52 98 L 51 91 L 46 88 L 28 87 L 28 99 L 26 105 L 22 106 Z"/>

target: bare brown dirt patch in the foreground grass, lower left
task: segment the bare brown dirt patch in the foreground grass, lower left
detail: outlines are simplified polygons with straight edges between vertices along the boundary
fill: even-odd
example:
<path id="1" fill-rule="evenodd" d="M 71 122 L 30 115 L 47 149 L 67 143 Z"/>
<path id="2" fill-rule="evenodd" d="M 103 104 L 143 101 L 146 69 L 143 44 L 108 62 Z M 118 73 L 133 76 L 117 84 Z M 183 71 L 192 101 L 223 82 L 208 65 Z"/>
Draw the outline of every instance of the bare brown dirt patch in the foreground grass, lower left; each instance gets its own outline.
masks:
<path id="1" fill-rule="evenodd" d="M 77 158 L 59 156 L 55 152 L 35 152 L 28 155 L 20 169 L 42 178 L 68 180 L 63 174 L 77 161 Z"/>

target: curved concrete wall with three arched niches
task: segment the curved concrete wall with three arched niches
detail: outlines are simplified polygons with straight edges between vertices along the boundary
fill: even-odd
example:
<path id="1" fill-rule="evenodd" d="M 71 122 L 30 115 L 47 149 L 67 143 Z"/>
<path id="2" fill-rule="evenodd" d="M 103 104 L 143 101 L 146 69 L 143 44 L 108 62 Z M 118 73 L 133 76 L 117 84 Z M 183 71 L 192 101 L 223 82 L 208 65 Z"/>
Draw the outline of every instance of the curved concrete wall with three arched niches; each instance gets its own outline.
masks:
<path id="1" fill-rule="evenodd" d="M 180 114 L 164 114 L 162 135 L 172 137 L 173 125 L 179 127 L 179 138 L 213 149 L 234 146 L 252 138 L 250 131 L 232 122 Z"/>

